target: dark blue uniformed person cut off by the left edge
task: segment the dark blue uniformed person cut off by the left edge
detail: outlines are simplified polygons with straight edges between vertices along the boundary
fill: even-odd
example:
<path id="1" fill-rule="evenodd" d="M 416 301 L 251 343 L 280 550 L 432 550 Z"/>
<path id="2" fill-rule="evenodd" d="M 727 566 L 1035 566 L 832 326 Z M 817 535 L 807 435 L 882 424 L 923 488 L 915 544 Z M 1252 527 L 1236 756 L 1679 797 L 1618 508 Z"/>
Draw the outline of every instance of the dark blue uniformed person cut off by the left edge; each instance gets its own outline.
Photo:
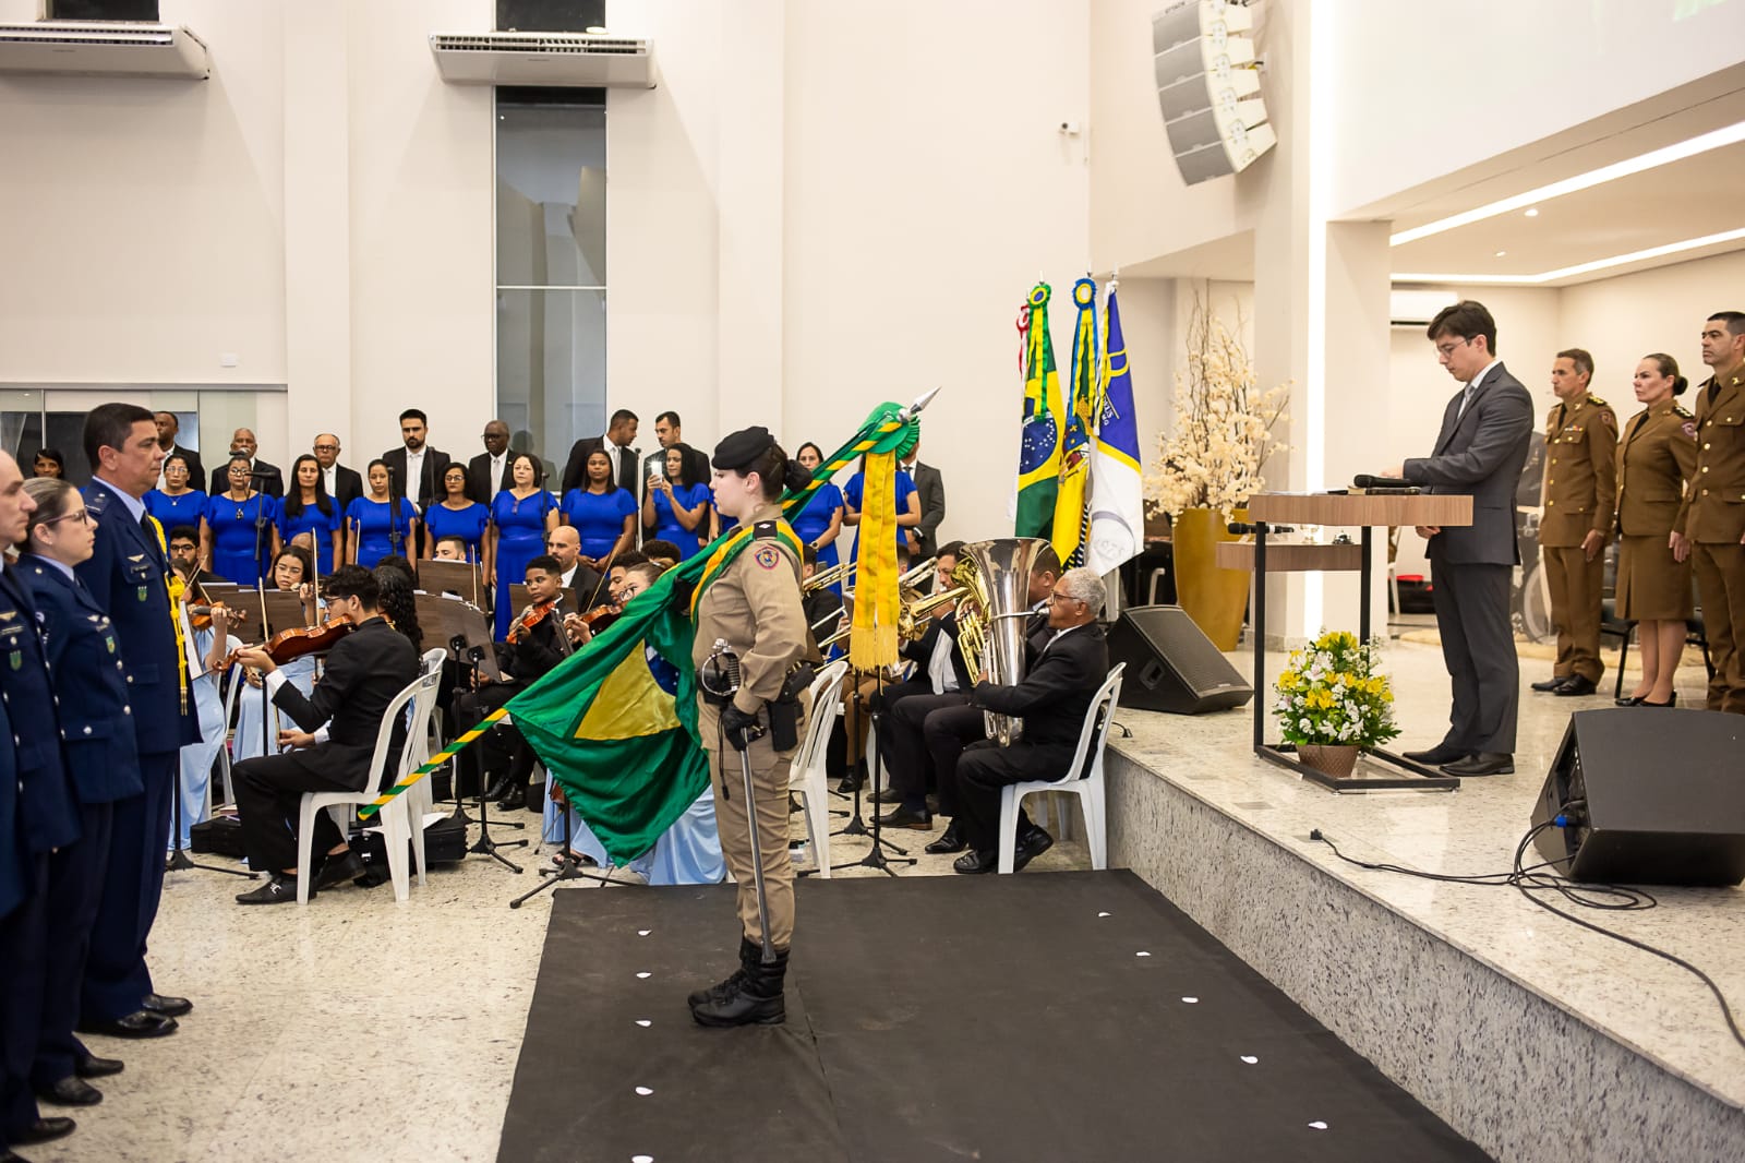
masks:
<path id="1" fill-rule="evenodd" d="M 31 501 L 23 485 L 17 463 L 0 454 L 0 548 L 24 540 Z M 52 1008 L 49 974 L 65 953 L 56 941 L 65 936 L 68 919 L 54 915 L 61 905 L 56 891 L 70 884 L 80 887 L 70 880 L 79 871 L 73 863 L 89 857 L 79 852 L 80 803 L 61 753 L 54 690 L 37 625 L 19 568 L 0 566 L 0 707 L 10 744 L 10 761 L 0 775 L 7 796 L 14 798 L 16 817 L 16 833 L 0 836 L 5 840 L 0 856 L 10 864 L 0 870 L 0 892 L 10 880 L 5 896 L 14 899 L 0 920 L 0 1144 L 5 1146 L 58 1139 L 73 1128 L 72 1119 L 42 1118 L 31 1084 L 40 1030 Z M 72 1036 L 70 1018 L 66 1036 Z"/>

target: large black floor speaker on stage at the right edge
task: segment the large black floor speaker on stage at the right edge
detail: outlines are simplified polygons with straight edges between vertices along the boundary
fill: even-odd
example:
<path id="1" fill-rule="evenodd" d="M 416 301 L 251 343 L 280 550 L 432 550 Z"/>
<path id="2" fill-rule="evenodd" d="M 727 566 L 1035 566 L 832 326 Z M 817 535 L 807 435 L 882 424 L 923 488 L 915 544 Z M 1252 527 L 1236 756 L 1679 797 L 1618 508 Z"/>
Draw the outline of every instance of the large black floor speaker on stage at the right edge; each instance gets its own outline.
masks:
<path id="1" fill-rule="evenodd" d="M 1534 847 L 1570 880 L 1738 884 L 1742 760 L 1740 714 L 1577 711 L 1532 812 L 1534 824 L 1558 815 L 1565 824 L 1543 829 Z"/>

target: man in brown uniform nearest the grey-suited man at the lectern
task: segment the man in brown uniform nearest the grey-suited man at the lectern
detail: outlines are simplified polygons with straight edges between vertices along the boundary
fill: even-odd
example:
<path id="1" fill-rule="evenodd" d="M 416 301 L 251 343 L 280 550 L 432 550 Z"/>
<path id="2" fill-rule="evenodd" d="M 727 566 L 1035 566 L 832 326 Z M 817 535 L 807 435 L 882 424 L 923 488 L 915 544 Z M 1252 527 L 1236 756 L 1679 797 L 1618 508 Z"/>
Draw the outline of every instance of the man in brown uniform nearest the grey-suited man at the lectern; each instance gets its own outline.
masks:
<path id="1" fill-rule="evenodd" d="M 1534 690 L 1591 695 L 1600 662 L 1600 590 L 1605 540 L 1618 503 L 1618 416 L 1588 391 L 1593 356 L 1581 348 L 1557 353 L 1551 391 L 1557 407 L 1544 428 L 1544 517 L 1539 552 L 1551 588 L 1557 665 Z"/>

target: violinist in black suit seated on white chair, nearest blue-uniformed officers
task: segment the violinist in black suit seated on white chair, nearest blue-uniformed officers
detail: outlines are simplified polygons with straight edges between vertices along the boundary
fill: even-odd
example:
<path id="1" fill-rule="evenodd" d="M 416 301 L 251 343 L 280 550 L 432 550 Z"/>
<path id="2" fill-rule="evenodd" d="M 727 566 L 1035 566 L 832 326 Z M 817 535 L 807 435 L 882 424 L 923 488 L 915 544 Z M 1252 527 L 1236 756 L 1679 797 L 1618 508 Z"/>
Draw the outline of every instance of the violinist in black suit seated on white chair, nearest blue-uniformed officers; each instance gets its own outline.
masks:
<path id="1" fill-rule="evenodd" d="M 237 655 L 243 665 L 263 674 L 272 704 L 302 728 L 279 733 L 279 742 L 290 744 L 291 751 L 236 765 L 236 807 L 248 866 L 270 875 L 262 887 L 237 894 L 237 905 L 290 905 L 297 899 L 300 875 L 316 877 L 311 898 L 321 887 L 363 875 L 361 863 L 326 812 L 316 814 L 311 843 L 316 868 L 297 866 L 298 805 L 305 791 L 380 786 L 384 772 L 372 772 L 370 760 L 382 714 L 419 674 L 417 650 L 377 609 L 380 587 L 373 573 L 361 566 L 340 566 L 328 578 L 323 595 L 328 613 L 347 618 L 354 629 L 328 651 L 312 697 L 304 697 L 284 681 L 267 650 L 251 646 Z M 398 751 L 403 740 L 405 725 L 396 723 L 391 747 Z"/>

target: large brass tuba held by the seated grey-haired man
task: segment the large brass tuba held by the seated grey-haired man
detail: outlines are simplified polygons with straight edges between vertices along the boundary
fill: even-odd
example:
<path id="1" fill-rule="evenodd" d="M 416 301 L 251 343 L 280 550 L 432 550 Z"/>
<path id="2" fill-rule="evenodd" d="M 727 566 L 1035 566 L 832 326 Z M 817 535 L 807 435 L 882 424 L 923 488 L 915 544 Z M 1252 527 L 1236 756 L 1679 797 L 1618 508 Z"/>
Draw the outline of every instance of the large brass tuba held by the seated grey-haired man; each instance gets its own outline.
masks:
<path id="1" fill-rule="evenodd" d="M 1030 620 L 1030 571 L 1047 548 L 1042 538 L 998 538 L 972 541 L 951 571 L 967 590 L 958 602 L 958 650 L 970 674 L 988 665 L 988 679 L 1000 686 L 1024 681 L 1024 625 Z M 1024 721 L 986 712 L 988 739 L 1002 747 L 1017 742 Z"/>

